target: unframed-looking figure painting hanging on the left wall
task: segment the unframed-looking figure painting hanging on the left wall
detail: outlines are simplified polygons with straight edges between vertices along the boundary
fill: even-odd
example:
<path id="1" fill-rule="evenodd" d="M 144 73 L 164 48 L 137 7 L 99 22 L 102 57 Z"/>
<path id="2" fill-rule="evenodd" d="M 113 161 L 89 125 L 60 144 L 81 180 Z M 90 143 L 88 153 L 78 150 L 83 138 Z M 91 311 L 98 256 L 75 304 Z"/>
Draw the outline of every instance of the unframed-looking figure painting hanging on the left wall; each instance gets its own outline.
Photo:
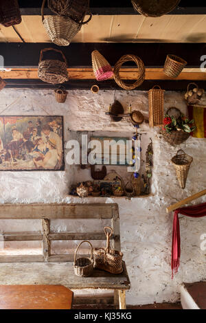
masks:
<path id="1" fill-rule="evenodd" d="M 63 117 L 0 116 L 0 170 L 64 170 Z"/>

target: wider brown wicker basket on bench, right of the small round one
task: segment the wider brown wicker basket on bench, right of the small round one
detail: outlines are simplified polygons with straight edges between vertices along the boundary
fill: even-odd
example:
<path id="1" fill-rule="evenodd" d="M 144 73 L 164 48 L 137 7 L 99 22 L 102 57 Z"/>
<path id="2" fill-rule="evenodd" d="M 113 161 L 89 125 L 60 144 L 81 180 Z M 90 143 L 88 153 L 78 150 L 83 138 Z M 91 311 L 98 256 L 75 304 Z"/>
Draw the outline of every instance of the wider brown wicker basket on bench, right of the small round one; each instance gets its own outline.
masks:
<path id="1" fill-rule="evenodd" d="M 106 229 L 110 232 L 106 232 Z M 112 228 L 104 227 L 104 232 L 106 234 L 106 248 L 93 249 L 94 267 L 108 271 L 111 274 L 121 274 L 123 271 L 123 254 L 110 248 L 109 239 L 113 234 Z"/>

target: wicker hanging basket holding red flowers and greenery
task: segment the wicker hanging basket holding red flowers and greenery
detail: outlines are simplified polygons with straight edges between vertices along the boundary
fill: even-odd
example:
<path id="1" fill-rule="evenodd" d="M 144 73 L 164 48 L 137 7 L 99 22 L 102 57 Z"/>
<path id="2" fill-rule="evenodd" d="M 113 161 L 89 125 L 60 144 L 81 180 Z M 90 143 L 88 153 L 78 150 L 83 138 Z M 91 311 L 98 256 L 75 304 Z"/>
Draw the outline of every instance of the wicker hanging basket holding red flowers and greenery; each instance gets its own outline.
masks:
<path id="1" fill-rule="evenodd" d="M 177 108 L 170 108 L 170 109 L 175 109 L 178 111 L 179 115 L 181 115 L 181 111 Z M 166 112 L 166 114 L 169 114 L 170 109 Z M 183 130 L 177 131 L 171 131 L 170 133 L 167 133 L 166 131 L 161 131 L 161 135 L 163 136 L 165 142 L 168 142 L 172 146 L 174 145 L 179 145 L 185 142 L 190 137 L 190 133 L 186 133 Z"/>

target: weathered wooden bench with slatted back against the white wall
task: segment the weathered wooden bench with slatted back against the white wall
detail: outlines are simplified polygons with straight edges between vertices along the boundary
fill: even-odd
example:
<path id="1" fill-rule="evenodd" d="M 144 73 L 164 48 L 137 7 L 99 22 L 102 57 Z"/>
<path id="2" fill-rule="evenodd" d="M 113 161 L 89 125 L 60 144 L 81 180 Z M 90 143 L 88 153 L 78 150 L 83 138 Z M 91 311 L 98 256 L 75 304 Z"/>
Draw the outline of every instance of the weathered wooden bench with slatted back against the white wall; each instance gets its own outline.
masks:
<path id="1" fill-rule="evenodd" d="M 69 289 L 108 289 L 113 291 L 115 306 L 126 309 L 125 292 L 130 289 L 130 280 L 125 263 L 122 274 L 113 275 L 95 269 L 91 277 L 81 278 L 73 271 L 73 253 L 54 255 L 51 254 L 50 246 L 51 241 L 57 240 L 105 240 L 103 227 L 102 232 L 50 232 L 51 219 L 109 219 L 113 228 L 111 247 L 120 251 L 117 204 L 1 204 L 0 219 L 41 219 L 43 227 L 42 232 L 1 234 L 1 241 L 43 241 L 43 254 L 0 256 L 0 285 L 63 285 Z M 73 304 L 76 304 L 76 298 Z M 80 298 L 77 304 L 80 304 Z"/>

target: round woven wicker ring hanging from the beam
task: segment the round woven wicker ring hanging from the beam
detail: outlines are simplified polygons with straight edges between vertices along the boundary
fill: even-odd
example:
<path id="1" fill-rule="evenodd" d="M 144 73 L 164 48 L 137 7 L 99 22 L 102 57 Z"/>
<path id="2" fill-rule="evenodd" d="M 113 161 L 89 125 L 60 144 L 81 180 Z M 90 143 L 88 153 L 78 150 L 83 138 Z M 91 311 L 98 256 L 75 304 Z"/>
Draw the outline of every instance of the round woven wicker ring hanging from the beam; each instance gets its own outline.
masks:
<path id="1" fill-rule="evenodd" d="M 123 63 L 126 63 L 130 60 L 133 60 L 133 62 L 137 64 L 138 74 L 137 74 L 137 80 L 133 84 L 126 84 L 119 76 L 119 69 L 122 67 Z M 122 89 L 133 90 L 136 87 L 139 87 L 139 85 L 141 85 L 144 82 L 144 78 L 145 78 L 145 67 L 144 67 L 143 61 L 139 57 L 133 54 L 122 56 L 115 64 L 114 78 L 117 85 L 119 85 L 119 87 L 122 87 Z"/>

